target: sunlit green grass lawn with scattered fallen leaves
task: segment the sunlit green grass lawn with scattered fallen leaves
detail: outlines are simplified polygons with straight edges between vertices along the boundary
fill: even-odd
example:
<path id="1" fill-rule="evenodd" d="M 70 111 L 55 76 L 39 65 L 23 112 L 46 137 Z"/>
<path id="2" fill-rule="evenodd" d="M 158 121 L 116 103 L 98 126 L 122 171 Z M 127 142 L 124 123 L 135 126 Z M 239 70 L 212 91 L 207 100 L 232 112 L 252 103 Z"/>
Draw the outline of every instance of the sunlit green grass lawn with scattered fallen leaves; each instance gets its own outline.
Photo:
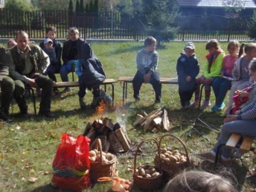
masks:
<path id="1" fill-rule="evenodd" d="M 6 46 L 5 42 L 2 42 Z M 136 73 L 135 58 L 137 51 L 142 48 L 142 42 L 91 42 L 94 53 L 103 63 L 107 78 L 118 79 L 121 76 L 133 76 Z M 162 47 L 157 47 L 159 54 L 159 73 L 161 77 L 177 77 L 176 61 L 179 57 L 185 42 L 170 42 Z M 226 50 L 227 42 L 221 42 L 223 50 Z M 205 65 L 205 42 L 195 42 L 195 50 L 202 74 Z M 59 75 L 57 75 L 60 81 Z M 75 77 L 77 78 L 77 77 Z M 70 74 L 71 79 L 71 74 Z M 249 191 L 255 189 L 255 180 L 247 178 L 249 170 L 255 168 L 255 157 L 253 153 L 247 153 L 242 159 L 234 159 L 230 168 L 221 166 L 214 167 L 209 164 L 199 163 L 195 158 L 195 153 L 210 150 L 218 139 L 218 134 L 201 126 L 196 128 L 209 139 L 203 138 L 191 129 L 191 123 L 195 117 L 200 115 L 202 111 L 197 109 L 181 110 L 179 105 L 178 86 L 163 85 L 162 102 L 154 105 L 154 91 L 151 85 L 142 85 L 141 98 L 142 101 L 134 102 L 133 90 L 131 85 L 128 86 L 128 95 L 125 106 L 122 106 L 122 84 L 115 83 L 115 110 L 108 111 L 105 114 L 96 114 L 90 109 L 90 103 L 93 95 L 89 91 L 86 94 L 86 110 L 81 110 L 78 103 L 78 87 L 74 87 L 69 93 L 61 93 L 52 99 L 51 110 L 57 114 L 56 119 L 45 119 L 37 117 L 33 112 L 33 102 L 31 98 L 27 98 L 29 105 L 28 118 L 18 117 L 18 106 L 15 102 L 11 105 L 10 115 L 11 121 L 0 124 L 0 189 L 1 191 L 56 191 L 50 186 L 52 174 L 51 164 L 55 157 L 57 147 L 60 142 L 61 134 L 68 133 L 77 137 L 82 134 L 87 122 L 93 122 L 94 119 L 101 117 L 111 118 L 113 122 L 118 122 L 124 126 L 133 142 L 133 148 L 129 153 L 117 154 L 117 169 L 121 178 L 133 180 L 132 173 L 127 170 L 128 166 L 134 166 L 135 145 L 145 138 L 158 139 L 166 134 L 159 132 L 157 134 L 149 131 L 142 131 L 141 127 L 134 127 L 132 123 L 137 114 L 141 110 L 147 113 L 161 107 L 166 109 L 170 118 L 169 133 L 177 135 L 185 143 L 189 156 L 194 162 L 194 166 L 210 171 L 211 173 L 219 173 L 230 178 L 230 173 L 234 174 L 234 181 L 239 191 Z M 107 93 L 111 93 L 110 87 Z M 228 97 L 227 97 L 228 98 Z M 226 103 L 227 103 L 226 98 Z M 37 98 L 37 111 L 40 99 Z M 214 95 L 211 95 L 211 101 L 214 102 Z M 223 125 L 225 118 L 224 112 L 211 113 L 210 109 L 203 111 L 202 118 L 209 124 L 214 125 L 218 129 Z M 181 143 L 175 139 L 164 139 L 162 147 L 170 149 L 180 149 Z M 137 156 L 137 166 L 152 164 L 155 155 L 153 142 L 147 142 L 142 146 L 144 153 Z M 254 162 L 253 162 L 254 161 Z M 49 174 L 44 174 L 49 171 Z M 227 172 L 228 171 L 228 172 Z M 38 178 L 37 182 L 30 183 L 29 178 Z M 255 179 L 255 177 L 254 177 Z M 96 183 L 93 189 L 87 191 L 108 191 L 111 183 Z M 141 191 L 134 186 L 132 191 Z M 158 191 L 162 191 L 159 189 Z"/>

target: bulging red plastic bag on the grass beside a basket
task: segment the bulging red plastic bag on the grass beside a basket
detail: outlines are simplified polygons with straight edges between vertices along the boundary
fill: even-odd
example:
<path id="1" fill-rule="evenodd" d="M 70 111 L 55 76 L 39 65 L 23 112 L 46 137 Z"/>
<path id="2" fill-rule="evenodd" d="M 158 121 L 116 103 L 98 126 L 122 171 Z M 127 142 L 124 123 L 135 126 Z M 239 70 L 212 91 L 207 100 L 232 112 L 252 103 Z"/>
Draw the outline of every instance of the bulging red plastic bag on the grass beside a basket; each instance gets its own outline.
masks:
<path id="1" fill-rule="evenodd" d="M 90 138 L 81 135 L 74 138 L 69 134 L 62 134 L 53 161 L 51 185 L 74 191 L 91 187 L 89 145 Z"/>

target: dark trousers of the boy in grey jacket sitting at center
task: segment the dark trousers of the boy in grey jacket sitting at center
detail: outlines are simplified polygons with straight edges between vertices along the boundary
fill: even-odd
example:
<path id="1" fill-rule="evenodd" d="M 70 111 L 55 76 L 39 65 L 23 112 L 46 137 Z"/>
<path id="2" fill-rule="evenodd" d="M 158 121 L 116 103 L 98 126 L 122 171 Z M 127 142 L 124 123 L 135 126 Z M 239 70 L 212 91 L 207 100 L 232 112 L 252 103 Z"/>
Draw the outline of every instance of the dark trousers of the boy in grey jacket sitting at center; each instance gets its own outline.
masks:
<path id="1" fill-rule="evenodd" d="M 160 101 L 161 100 L 161 91 L 162 91 L 162 84 L 160 83 L 159 79 L 159 73 L 158 71 L 155 71 L 149 80 L 149 83 L 153 86 L 153 89 L 155 91 L 155 100 Z M 133 78 L 133 97 L 137 98 L 139 97 L 139 91 L 141 90 L 142 83 L 144 83 L 144 77 L 143 75 L 137 71 L 135 74 L 135 77 Z"/>

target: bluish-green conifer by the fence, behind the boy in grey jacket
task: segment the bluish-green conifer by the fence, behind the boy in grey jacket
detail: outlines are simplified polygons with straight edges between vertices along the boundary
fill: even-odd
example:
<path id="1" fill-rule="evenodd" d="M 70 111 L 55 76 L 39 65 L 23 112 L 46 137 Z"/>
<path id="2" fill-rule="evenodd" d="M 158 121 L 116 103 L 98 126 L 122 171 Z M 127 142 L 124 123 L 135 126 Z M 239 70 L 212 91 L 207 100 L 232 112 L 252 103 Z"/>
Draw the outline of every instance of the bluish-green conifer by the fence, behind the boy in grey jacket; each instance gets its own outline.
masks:
<path id="1" fill-rule="evenodd" d="M 155 37 L 158 45 L 169 42 L 175 38 L 177 28 L 173 26 L 178 16 L 178 4 L 175 0 L 143 0 L 147 19 L 147 34 Z"/>

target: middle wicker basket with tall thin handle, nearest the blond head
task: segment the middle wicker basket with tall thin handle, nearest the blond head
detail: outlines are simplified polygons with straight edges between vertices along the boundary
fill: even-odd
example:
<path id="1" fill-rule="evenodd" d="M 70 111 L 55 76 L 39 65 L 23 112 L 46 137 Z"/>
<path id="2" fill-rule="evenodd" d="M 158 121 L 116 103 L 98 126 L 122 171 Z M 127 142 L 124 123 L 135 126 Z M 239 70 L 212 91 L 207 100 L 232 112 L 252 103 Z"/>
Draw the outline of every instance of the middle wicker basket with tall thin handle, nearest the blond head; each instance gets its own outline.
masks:
<path id="1" fill-rule="evenodd" d="M 133 171 L 134 184 L 137 185 L 138 187 L 141 187 L 141 189 L 146 190 L 146 191 L 159 189 L 162 185 L 162 174 L 163 174 L 163 171 L 161 169 L 158 169 L 155 166 L 154 166 L 155 169 L 160 173 L 160 175 L 158 175 L 158 177 L 155 177 L 155 178 L 141 178 L 141 177 L 138 177 L 138 174 L 136 174 L 136 161 L 137 161 L 138 149 L 139 149 L 139 147 L 142 146 L 142 144 L 145 141 L 147 141 L 149 139 L 153 139 L 153 138 L 145 139 L 137 146 L 137 150 L 136 150 L 136 153 L 135 153 L 135 156 L 134 156 L 134 171 Z M 160 148 L 159 148 L 157 140 L 153 139 L 153 141 L 155 143 L 157 143 L 158 154 L 160 154 Z M 146 166 L 146 167 L 149 167 L 149 166 Z"/>

